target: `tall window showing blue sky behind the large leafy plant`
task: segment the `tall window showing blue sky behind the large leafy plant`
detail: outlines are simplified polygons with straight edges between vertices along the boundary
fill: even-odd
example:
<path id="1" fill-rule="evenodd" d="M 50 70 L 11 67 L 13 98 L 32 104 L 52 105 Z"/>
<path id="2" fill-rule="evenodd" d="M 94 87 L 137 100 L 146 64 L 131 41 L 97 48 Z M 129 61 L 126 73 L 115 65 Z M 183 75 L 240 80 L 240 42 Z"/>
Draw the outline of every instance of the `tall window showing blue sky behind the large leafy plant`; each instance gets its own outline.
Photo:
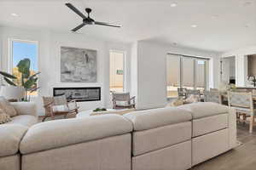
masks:
<path id="1" fill-rule="evenodd" d="M 23 41 L 23 40 L 10 40 L 10 66 L 9 71 L 18 77 L 17 84 L 21 85 L 21 74 L 18 71 L 17 65 L 21 59 L 30 59 L 31 75 L 38 72 L 38 42 Z M 37 84 L 35 84 L 37 86 Z M 36 95 L 37 92 L 32 92 L 29 95 Z"/>

